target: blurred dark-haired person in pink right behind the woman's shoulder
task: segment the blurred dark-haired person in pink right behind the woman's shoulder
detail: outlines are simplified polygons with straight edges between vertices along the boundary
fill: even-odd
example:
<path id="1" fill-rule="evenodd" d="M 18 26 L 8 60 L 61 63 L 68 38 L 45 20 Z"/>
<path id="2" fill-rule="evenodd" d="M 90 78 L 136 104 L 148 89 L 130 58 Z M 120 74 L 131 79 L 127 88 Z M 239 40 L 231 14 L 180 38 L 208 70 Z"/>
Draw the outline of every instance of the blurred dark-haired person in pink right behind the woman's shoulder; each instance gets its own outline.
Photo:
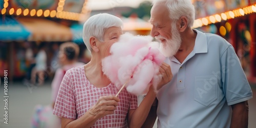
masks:
<path id="1" fill-rule="evenodd" d="M 65 42 L 60 45 L 60 51 L 58 53 L 58 61 L 61 65 L 56 70 L 52 81 L 52 104 L 43 106 L 36 105 L 34 115 L 32 118 L 32 127 L 35 128 L 57 128 L 61 127 L 60 118 L 53 115 L 53 106 L 57 98 L 60 83 L 66 71 L 71 68 L 83 66 L 84 63 L 78 62 L 79 47 L 73 42 Z"/>

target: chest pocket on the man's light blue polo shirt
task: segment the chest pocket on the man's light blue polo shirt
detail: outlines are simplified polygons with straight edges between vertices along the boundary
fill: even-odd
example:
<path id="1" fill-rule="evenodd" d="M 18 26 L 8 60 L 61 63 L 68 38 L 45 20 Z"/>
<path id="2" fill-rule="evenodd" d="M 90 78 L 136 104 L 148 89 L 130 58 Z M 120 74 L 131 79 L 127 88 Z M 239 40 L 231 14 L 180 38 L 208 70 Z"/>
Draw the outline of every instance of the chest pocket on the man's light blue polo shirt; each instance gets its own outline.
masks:
<path id="1" fill-rule="evenodd" d="M 208 106 L 217 99 L 217 75 L 196 76 L 194 100 Z"/>

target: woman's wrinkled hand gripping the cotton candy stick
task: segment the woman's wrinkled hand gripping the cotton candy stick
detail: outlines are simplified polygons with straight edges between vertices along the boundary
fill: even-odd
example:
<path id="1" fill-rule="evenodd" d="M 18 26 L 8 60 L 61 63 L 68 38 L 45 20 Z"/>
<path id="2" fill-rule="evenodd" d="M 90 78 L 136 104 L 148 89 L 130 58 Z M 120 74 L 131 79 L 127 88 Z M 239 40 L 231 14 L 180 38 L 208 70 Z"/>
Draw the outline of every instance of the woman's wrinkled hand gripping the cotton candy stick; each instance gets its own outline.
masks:
<path id="1" fill-rule="evenodd" d="M 99 98 L 97 103 L 93 105 L 93 107 L 89 110 L 89 113 L 94 116 L 99 116 L 99 118 L 114 114 L 114 110 L 116 110 L 116 106 L 120 99 L 118 97 L 109 95 L 109 96 L 102 96 Z"/>

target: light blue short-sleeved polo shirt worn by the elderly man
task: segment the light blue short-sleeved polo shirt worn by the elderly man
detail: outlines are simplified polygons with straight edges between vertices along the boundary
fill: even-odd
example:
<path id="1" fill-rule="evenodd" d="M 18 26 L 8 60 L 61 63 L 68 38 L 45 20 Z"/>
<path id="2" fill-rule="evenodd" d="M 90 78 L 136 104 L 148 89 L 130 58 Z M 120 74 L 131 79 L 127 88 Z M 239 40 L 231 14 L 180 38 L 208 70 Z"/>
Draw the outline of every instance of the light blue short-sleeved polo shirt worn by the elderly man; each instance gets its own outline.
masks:
<path id="1" fill-rule="evenodd" d="M 158 94 L 158 127 L 229 127 L 232 104 L 252 98 L 233 47 L 198 30 L 194 50 L 180 63 L 165 60 L 173 79 Z"/>

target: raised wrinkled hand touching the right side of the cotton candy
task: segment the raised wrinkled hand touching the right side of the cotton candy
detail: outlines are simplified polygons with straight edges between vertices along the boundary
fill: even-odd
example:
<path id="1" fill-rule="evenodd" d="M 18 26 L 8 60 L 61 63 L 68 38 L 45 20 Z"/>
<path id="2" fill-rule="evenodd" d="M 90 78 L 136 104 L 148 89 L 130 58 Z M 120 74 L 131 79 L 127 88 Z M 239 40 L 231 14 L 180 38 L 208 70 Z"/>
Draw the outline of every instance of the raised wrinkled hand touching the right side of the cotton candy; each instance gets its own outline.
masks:
<path id="1" fill-rule="evenodd" d="M 166 83 L 173 78 L 173 73 L 170 70 L 170 66 L 163 62 L 159 68 L 159 74 L 162 75 L 162 80 L 158 83 L 157 90 L 161 89 Z"/>

